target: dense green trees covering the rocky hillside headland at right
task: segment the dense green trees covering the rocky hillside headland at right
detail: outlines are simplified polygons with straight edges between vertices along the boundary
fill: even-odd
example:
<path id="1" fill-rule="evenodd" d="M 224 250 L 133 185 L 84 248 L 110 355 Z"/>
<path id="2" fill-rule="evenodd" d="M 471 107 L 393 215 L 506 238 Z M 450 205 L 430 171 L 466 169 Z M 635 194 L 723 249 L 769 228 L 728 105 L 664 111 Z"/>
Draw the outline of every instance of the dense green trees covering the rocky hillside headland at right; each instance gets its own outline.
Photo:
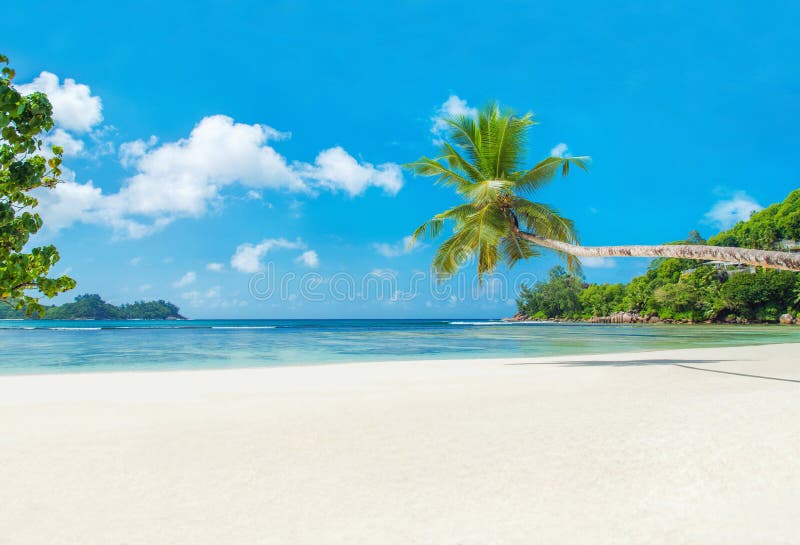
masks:
<path id="1" fill-rule="evenodd" d="M 772 248 L 800 238 L 800 190 L 754 214 L 709 242 Z M 696 232 L 687 242 L 705 244 Z M 775 322 L 800 313 L 800 273 L 721 267 L 690 259 L 656 259 L 647 272 L 623 284 L 587 284 L 563 268 L 547 280 L 523 287 L 519 311 L 532 318 L 587 319 L 634 312 L 679 321 Z"/>

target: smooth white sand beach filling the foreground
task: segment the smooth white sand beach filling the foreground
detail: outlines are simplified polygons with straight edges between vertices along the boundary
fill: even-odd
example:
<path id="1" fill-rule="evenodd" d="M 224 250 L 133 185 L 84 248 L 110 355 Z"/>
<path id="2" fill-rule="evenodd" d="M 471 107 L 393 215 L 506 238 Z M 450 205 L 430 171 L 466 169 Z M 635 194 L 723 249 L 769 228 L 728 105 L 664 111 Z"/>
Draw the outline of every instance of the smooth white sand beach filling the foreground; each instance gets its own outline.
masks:
<path id="1" fill-rule="evenodd" d="M 0 377 L 0 543 L 800 542 L 800 382 L 674 363 L 800 344 Z"/>

